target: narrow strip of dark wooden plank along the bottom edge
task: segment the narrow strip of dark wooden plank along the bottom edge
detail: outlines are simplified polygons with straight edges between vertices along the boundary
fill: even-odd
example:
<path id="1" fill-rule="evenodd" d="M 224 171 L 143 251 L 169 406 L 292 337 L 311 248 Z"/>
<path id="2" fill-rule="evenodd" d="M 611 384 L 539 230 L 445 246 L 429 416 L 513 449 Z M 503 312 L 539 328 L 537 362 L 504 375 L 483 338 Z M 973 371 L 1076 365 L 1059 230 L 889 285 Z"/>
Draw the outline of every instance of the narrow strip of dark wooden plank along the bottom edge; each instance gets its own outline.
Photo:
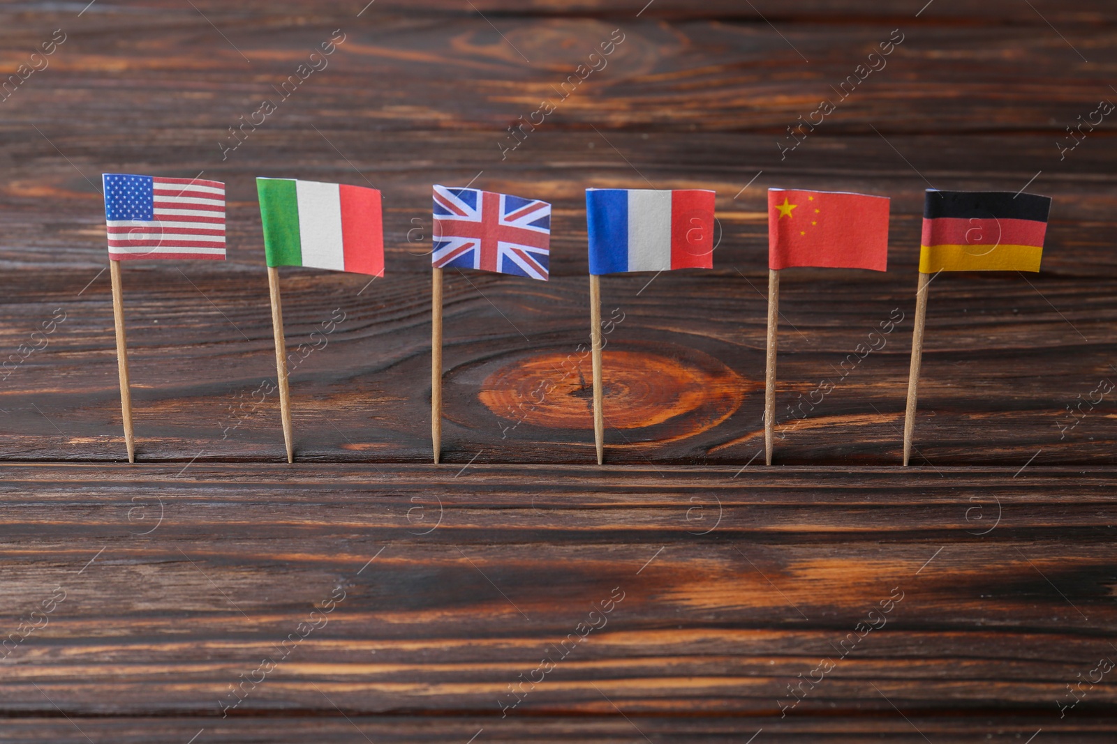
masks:
<path id="1" fill-rule="evenodd" d="M 315 693 L 317 694 L 317 693 Z M 626 718 L 628 718 L 626 721 Z M 909 714 L 908 721 L 892 714 L 885 716 L 849 715 L 824 721 L 781 721 L 765 717 L 651 717 L 639 714 L 621 716 L 615 712 L 602 716 L 553 717 L 532 716 L 519 721 L 494 722 L 490 716 L 361 716 L 293 718 L 289 716 L 256 716 L 250 719 L 212 721 L 184 717 L 73 717 L 67 722 L 54 718 L 7 719 L 6 742 L 51 742 L 55 744 L 88 744 L 80 732 L 94 741 L 127 744 L 171 741 L 188 742 L 306 742 L 323 740 L 340 744 L 374 742 L 586 742 L 589 744 L 647 744 L 648 741 L 671 742 L 747 742 L 763 731 L 755 742 L 801 741 L 821 738 L 836 744 L 852 744 L 872 740 L 926 744 L 932 741 L 976 744 L 995 736 L 1019 736 L 1021 742 L 1042 729 L 1044 741 L 1085 742 L 1097 744 L 1113 741 L 1109 718 L 1080 718 L 1073 723 L 1050 721 L 1044 716 L 960 715 L 933 718 Z M 78 731 L 80 729 L 80 732 Z M 925 738 L 925 736 L 927 738 Z M 762 738 L 764 737 L 764 738 Z M 937 738 L 936 738 L 937 737 Z"/>

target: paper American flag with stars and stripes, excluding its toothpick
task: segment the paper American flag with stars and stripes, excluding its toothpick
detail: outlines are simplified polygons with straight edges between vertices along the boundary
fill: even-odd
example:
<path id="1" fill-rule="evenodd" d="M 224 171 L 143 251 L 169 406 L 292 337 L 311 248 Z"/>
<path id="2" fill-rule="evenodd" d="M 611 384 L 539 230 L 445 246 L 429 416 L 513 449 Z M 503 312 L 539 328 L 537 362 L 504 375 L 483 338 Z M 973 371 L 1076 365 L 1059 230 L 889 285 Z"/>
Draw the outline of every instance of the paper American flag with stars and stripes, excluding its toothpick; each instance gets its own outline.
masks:
<path id="1" fill-rule="evenodd" d="M 108 258 L 225 260 L 225 184 L 104 174 Z"/>

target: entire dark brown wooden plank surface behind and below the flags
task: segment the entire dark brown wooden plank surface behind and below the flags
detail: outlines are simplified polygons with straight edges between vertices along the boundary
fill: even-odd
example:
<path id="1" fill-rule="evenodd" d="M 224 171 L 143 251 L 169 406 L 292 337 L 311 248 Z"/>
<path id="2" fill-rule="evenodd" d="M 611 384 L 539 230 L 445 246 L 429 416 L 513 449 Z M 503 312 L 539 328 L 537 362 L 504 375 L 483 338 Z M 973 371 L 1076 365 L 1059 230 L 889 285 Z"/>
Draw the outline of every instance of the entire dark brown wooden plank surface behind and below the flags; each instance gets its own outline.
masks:
<path id="1" fill-rule="evenodd" d="M 1060 143 L 1117 100 L 1115 20 L 1104 0 L 0 6 L 0 85 L 66 39 L 0 94 L 0 349 L 26 357 L 0 370 L 0 644 L 21 638 L 0 645 L 0 742 L 1113 741 L 1113 115 Z M 228 149 L 264 98 L 275 113 Z M 135 466 L 103 172 L 229 193 L 229 261 L 124 267 Z M 258 175 L 384 197 L 384 279 L 283 270 L 305 355 L 294 466 L 267 393 Z M 552 280 L 447 274 L 436 467 L 430 184 L 470 182 L 554 203 Z M 649 184 L 717 191 L 715 269 L 603 280 L 596 467 L 583 190 Z M 783 273 L 768 470 L 772 186 L 892 209 L 887 273 Z M 1040 274 L 932 284 L 903 470 L 932 186 L 1053 206 Z M 608 622 L 502 717 L 614 588 Z"/>

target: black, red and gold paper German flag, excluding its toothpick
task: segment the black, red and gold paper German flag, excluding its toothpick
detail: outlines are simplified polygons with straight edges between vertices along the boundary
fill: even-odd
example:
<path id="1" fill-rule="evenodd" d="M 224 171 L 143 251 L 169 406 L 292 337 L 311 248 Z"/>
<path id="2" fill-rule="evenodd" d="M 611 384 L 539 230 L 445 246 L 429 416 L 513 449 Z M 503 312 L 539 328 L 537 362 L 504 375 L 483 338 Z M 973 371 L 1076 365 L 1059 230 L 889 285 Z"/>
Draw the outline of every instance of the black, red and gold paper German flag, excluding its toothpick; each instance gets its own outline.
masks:
<path id="1" fill-rule="evenodd" d="M 1039 271 L 1050 196 L 927 190 L 919 271 Z"/>

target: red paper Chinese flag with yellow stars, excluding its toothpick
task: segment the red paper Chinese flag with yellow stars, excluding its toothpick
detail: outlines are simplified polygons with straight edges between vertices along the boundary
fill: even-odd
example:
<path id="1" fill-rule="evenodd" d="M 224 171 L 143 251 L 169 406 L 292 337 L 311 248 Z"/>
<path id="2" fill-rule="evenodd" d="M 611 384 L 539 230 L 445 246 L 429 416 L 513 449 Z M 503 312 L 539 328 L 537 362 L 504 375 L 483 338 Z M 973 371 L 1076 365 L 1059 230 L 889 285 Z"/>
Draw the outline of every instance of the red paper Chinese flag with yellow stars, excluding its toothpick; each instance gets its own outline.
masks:
<path id="1" fill-rule="evenodd" d="M 768 189 L 768 268 L 888 269 L 887 196 Z"/>

